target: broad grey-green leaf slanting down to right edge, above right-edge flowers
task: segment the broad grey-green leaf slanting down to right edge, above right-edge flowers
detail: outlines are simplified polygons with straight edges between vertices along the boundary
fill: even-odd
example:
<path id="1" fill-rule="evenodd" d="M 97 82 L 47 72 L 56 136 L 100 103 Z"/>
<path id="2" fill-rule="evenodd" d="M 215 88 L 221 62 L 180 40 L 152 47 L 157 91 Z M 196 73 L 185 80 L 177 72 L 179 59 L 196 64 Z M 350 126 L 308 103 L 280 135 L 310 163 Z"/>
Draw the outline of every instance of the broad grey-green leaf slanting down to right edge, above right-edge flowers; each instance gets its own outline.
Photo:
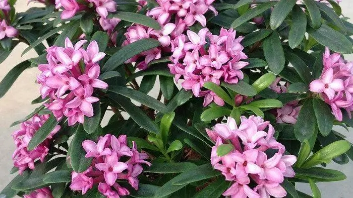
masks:
<path id="1" fill-rule="evenodd" d="M 307 31 L 317 42 L 335 52 L 352 53 L 352 43 L 344 35 L 325 24 L 322 24 L 318 30 L 309 27 Z"/>

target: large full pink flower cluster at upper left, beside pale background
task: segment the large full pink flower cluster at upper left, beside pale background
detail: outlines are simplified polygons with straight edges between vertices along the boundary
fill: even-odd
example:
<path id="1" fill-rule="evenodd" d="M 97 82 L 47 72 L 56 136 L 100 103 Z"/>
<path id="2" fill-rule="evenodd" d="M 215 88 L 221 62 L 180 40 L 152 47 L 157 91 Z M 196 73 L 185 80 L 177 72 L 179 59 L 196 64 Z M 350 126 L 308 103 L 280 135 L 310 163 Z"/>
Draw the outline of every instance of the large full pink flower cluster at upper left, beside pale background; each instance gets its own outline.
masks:
<path id="1" fill-rule="evenodd" d="M 92 96 L 93 88 L 108 87 L 107 83 L 98 79 L 100 67 L 97 62 L 105 54 L 99 52 L 96 41 L 84 50 L 82 45 L 86 42 L 81 40 L 74 46 L 67 38 L 65 48 L 51 46 L 46 49 L 48 64 L 38 65 L 42 72 L 37 76 L 37 82 L 41 84 L 40 94 L 42 98 L 50 97 L 49 103 L 44 105 L 57 120 L 68 117 L 69 126 L 76 122 L 83 123 L 84 116 L 92 117 L 92 103 L 99 101 Z"/>

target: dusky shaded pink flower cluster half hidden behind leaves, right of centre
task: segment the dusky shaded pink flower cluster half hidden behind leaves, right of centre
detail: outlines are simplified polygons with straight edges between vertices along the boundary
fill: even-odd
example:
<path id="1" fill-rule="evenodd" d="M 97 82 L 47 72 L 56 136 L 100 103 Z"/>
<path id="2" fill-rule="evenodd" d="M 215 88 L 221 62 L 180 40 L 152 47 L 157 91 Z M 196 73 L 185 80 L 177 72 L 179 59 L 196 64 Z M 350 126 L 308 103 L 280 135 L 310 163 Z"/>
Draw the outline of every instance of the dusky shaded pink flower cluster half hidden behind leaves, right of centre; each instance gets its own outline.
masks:
<path id="1" fill-rule="evenodd" d="M 281 80 L 280 77 L 276 78 L 276 80 L 270 85 L 270 88 L 277 93 L 285 93 L 287 92 L 287 86 L 289 83 L 286 83 L 286 86 L 279 84 Z M 299 101 L 291 101 L 287 104 L 284 104 L 282 108 L 276 109 L 276 122 L 277 123 L 287 123 L 287 124 L 296 124 L 297 118 L 300 110 L 303 106 L 298 106 Z"/>

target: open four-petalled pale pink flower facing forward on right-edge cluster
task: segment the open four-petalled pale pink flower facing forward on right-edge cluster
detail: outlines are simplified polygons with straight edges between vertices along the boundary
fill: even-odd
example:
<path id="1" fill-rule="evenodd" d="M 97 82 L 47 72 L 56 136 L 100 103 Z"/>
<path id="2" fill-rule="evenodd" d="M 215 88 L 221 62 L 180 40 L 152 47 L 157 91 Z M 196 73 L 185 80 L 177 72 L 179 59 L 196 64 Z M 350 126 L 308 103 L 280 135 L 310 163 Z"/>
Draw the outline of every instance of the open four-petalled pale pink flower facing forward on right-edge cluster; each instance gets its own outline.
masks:
<path id="1" fill-rule="evenodd" d="M 329 100 L 332 100 L 335 91 L 344 90 L 343 80 L 333 78 L 333 69 L 327 69 L 321 79 L 314 80 L 310 83 L 310 90 L 313 92 L 322 93 L 324 92 Z"/>

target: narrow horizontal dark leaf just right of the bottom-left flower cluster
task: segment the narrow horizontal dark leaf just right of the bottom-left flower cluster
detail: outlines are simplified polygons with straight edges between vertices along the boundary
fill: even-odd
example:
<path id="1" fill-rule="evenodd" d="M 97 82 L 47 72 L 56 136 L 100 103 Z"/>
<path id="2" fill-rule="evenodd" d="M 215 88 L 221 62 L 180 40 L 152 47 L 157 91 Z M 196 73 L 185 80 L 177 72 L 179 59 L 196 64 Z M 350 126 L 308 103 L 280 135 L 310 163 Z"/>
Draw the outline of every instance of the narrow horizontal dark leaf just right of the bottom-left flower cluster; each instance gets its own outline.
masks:
<path id="1" fill-rule="evenodd" d="M 190 162 L 176 162 L 176 163 L 153 162 L 151 167 L 147 167 L 146 169 L 143 169 L 143 171 L 166 174 L 166 173 L 185 172 L 196 167 L 197 166 L 195 164 Z"/>

